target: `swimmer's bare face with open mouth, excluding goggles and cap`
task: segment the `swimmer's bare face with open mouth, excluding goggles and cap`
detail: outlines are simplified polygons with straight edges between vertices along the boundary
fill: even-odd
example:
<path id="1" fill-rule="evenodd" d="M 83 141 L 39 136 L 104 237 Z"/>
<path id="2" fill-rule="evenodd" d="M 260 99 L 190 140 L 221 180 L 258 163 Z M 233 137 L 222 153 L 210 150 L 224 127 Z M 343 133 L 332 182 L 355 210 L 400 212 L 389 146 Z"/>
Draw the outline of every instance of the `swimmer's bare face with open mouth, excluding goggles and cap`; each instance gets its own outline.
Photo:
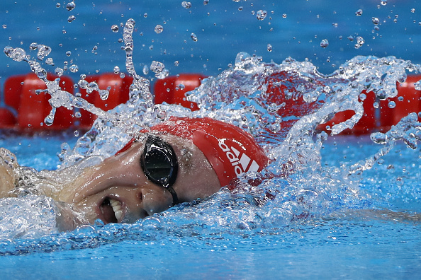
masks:
<path id="1" fill-rule="evenodd" d="M 220 182 L 203 153 L 186 139 L 159 136 L 172 147 L 178 172 L 172 188 L 179 202 L 191 202 L 218 192 Z M 140 158 L 145 141 L 84 170 L 75 180 L 74 192 L 65 200 L 74 203 L 93 223 L 133 223 L 169 209 L 173 197 L 168 189 L 152 182 L 142 170 Z"/>

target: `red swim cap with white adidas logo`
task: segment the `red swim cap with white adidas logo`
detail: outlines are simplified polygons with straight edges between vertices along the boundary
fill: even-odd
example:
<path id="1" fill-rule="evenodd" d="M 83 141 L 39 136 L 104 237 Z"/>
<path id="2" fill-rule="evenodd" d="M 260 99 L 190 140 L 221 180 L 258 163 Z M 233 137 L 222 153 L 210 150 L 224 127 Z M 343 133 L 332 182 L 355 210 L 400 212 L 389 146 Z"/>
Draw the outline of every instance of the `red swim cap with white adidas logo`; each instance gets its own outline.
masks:
<path id="1" fill-rule="evenodd" d="M 171 117 L 169 121 L 151 127 L 150 131 L 192 140 L 211 163 L 222 187 L 243 173 L 261 171 L 269 162 L 253 136 L 232 124 L 209 117 Z"/>

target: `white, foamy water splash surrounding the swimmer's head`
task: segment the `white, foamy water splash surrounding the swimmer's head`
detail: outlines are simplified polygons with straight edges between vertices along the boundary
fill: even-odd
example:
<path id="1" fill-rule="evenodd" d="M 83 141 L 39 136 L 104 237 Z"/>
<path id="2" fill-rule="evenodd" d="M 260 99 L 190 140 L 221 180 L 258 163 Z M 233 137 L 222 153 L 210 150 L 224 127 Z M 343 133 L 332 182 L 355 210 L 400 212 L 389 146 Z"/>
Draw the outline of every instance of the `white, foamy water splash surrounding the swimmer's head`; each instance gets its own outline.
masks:
<path id="1" fill-rule="evenodd" d="M 402 140 L 410 148 L 417 148 L 417 141 L 421 139 L 418 116 L 410 114 L 389 132 L 371 135 L 374 143 L 381 144 L 380 148 L 371 151 L 371 155 L 349 166 L 325 166 L 321 150 L 329 136 L 316 132 L 318 124 L 344 110 L 352 110 L 355 114 L 330 127 L 330 134 L 354 127 L 364 115 L 361 103 L 365 99 L 364 91 L 373 92 L 378 100 L 395 97 L 398 93 L 396 83 L 405 81 L 406 72 L 421 71 L 421 66 L 409 61 L 395 57 L 354 57 L 332 74 L 323 75 L 310 62 L 287 58 L 281 64 L 266 63 L 261 57 L 241 52 L 237 54 L 233 68 L 206 78 L 199 88 L 187 93 L 187 99 L 200 107 L 191 112 L 177 105 L 153 104 L 149 81 L 136 73 L 133 64 L 134 26 L 135 21 L 129 19 L 123 30 L 125 67 L 133 76 L 130 100 L 107 112 L 62 91 L 59 78 L 47 80 L 40 62 L 23 49 L 4 49 L 11 59 L 28 62 L 31 70 L 45 81 L 52 105 L 46 124 L 52 122 L 55 109 L 60 106 L 84 108 L 99 116 L 73 149 L 62 146 L 62 168 L 73 166 L 84 158 L 110 156 L 142 127 L 150 127 L 169 116 L 213 117 L 235 124 L 250 132 L 274 161 L 259 175 L 241 177 L 234 193 L 223 188 L 211 199 L 178 205 L 134 225 L 103 226 L 99 223 L 72 233 L 55 233 L 55 228 L 50 228 L 47 232 L 55 235 L 44 243 L 34 241 L 38 244 L 36 250 L 50 250 L 52 244 L 58 250 L 66 250 L 118 242 L 124 238 L 148 240 L 168 235 L 276 234 L 308 218 L 328 216 L 343 209 L 370 208 L 375 203 L 370 194 L 361 190 L 362 174 L 386 156 L 396 141 Z M 363 44 L 364 39 L 357 38 L 357 45 Z M 38 46 L 32 47 L 38 49 Z M 164 66 L 157 62 L 150 68 L 159 74 Z M 92 93 L 99 91 L 98 85 L 88 83 L 84 76 L 78 84 Z M 420 82 L 415 86 L 420 87 Z M 99 94 L 106 98 L 105 91 L 99 91 Z M 93 157 L 90 163 L 84 164 L 100 160 Z M 259 182 L 259 185 L 252 182 Z M 45 231 L 38 233 L 43 235 Z M 15 238 L 14 233 L 11 234 L 5 238 Z M 28 231 L 28 234 L 32 233 Z M 60 244 L 57 240 L 61 240 Z M 34 252 L 33 246 L 25 247 L 27 245 L 20 240 L 8 241 L 2 245 L 0 254 Z M 23 247 L 26 249 L 22 250 Z"/>

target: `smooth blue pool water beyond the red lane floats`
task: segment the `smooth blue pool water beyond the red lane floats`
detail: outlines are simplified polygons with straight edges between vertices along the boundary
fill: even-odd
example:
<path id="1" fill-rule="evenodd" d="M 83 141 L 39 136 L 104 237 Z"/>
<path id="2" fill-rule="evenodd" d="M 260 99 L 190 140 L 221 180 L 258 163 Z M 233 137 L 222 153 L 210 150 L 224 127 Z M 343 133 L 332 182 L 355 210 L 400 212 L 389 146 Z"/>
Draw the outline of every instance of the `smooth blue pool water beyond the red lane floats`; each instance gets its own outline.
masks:
<path id="1" fill-rule="evenodd" d="M 137 22 L 136 66 L 149 66 L 152 60 L 157 60 L 173 75 L 215 76 L 227 69 L 228 64 L 234 64 L 238 52 L 257 54 L 265 62 L 274 59 L 280 63 L 286 57 L 298 61 L 308 59 L 324 74 L 330 74 L 356 55 L 394 55 L 421 62 L 418 47 L 421 4 L 417 0 L 389 0 L 386 6 L 380 0 L 358 0 L 349 1 L 347 7 L 334 0 L 211 0 L 208 5 L 197 0 L 191 1 L 189 9 L 183 8 L 181 1 L 170 0 L 78 1 L 73 11 L 64 8 L 64 1 L 56 8 L 57 2 L 60 1 L 1 1 L 2 45 L 21 45 L 25 49 L 32 42 L 48 45 L 52 47 L 50 57 L 56 66 L 73 59 L 79 66 L 79 74 L 109 72 L 116 65 L 124 69 L 122 43 L 118 42 L 123 28 L 113 33 L 111 25 L 133 18 Z M 359 9 L 363 13 L 356 16 Z M 263 21 L 252 14 L 259 10 L 267 11 Z M 68 23 L 71 15 L 76 19 Z M 378 31 L 374 30 L 373 17 L 381 22 Z M 164 28 L 160 34 L 154 31 L 157 24 Z M 191 40 L 191 33 L 197 35 L 197 42 Z M 347 39 L 349 36 L 354 41 Z M 357 36 L 365 40 L 359 49 L 354 47 Z M 326 48 L 320 47 L 323 39 L 329 41 Z M 267 50 L 268 44 L 272 46 L 271 52 Z M 92 52 L 94 46 L 97 54 Z M 67 51 L 72 52 L 69 57 Z M 174 66 L 175 61 L 179 66 Z M 5 56 L 0 56 L 0 65 L 2 77 L 28 71 L 27 65 L 11 62 Z"/>

